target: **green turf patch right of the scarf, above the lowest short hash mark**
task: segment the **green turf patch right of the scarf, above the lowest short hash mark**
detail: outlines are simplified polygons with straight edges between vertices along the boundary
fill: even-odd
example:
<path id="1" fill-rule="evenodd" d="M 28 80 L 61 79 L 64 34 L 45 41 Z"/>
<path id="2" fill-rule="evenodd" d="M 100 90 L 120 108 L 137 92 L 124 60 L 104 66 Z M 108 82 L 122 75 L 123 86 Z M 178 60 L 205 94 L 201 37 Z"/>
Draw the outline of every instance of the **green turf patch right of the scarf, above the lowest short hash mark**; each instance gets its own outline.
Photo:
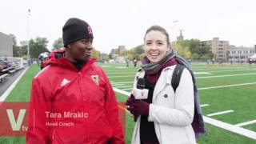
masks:
<path id="1" fill-rule="evenodd" d="M 253 88 L 254 87 L 254 88 Z M 256 119 L 256 84 L 251 86 L 226 87 L 218 90 L 199 90 L 200 101 L 210 104 L 203 107 L 203 114 L 210 114 L 224 110 L 234 110 L 229 114 L 214 116 L 213 118 L 238 124 Z"/>

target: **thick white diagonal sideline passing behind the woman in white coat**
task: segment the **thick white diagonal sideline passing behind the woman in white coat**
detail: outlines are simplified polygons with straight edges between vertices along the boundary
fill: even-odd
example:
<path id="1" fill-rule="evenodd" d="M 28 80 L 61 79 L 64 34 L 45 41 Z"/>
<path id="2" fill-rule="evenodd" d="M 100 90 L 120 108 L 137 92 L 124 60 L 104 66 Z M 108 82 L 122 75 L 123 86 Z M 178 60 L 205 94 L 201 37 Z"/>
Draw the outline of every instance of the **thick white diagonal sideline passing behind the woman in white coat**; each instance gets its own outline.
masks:
<path id="1" fill-rule="evenodd" d="M 119 90 L 117 88 L 113 88 L 115 92 L 118 92 L 120 94 L 124 94 L 126 96 L 130 96 L 130 93 L 124 91 L 124 90 Z M 210 123 L 211 125 L 214 125 L 214 126 L 217 126 L 219 128 L 222 128 L 222 129 L 225 129 L 225 130 L 229 130 L 233 133 L 236 133 L 236 134 L 241 134 L 247 138 L 252 138 L 252 139 L 256 139 L 256 132 L 252 131 L 252 130 L 246 130 L 242 127 L 239 127 L 239 126 L 234 126 L 234 125 L 231 125 L 229 123 L 226 123 L 226 122 L 222 122 L 222 121 L 218 121 L 214 118 L 209 118 L 209 117 L 206 117 L 206 116 L 202 116 L 203 119 L 204 119 L 204 122 L 206 123 Z"/>

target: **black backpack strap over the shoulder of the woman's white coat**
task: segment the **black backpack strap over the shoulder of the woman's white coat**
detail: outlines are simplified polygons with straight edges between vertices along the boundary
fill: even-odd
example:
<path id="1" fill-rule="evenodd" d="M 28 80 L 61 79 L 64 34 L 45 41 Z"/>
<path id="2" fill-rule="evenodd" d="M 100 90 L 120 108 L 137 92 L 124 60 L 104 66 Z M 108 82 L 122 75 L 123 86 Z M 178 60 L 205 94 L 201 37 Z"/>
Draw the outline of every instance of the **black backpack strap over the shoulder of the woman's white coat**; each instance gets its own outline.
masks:
<path id="1" fill-rule="evenodd" d="M 174 73 L 171 78 L 171 86 L 173 86 L 174 93 L 178 87 L 179 81 L 181 80 L 182 72 L 183 72 L 184 68 L 185 68 L 185 66 L 182 66 L 180 64 L 177 64 L 177 66 L 175 66 Z"/>

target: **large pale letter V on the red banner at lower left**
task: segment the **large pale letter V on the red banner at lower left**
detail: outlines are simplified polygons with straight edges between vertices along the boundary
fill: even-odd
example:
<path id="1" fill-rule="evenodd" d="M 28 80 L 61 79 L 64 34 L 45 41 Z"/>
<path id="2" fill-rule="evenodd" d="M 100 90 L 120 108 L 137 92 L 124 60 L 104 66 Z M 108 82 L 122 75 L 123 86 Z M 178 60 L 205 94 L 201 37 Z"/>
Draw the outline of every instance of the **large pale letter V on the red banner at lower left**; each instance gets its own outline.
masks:
<path id="1" fill-rule="evenodd" d="M 19 110 L 17 122 L 15 121 L 14 111 L 12 109 L 7 109 L 6 112 L 8 114 L 8 118 L 9 118 L 9 121 L 10 121 L 11 128 L 14 131 L 20 130 L 20 128 L 22 126 L 22 121 L 23 121 L 24 115 L 26 113 L 26 109 Z"/>

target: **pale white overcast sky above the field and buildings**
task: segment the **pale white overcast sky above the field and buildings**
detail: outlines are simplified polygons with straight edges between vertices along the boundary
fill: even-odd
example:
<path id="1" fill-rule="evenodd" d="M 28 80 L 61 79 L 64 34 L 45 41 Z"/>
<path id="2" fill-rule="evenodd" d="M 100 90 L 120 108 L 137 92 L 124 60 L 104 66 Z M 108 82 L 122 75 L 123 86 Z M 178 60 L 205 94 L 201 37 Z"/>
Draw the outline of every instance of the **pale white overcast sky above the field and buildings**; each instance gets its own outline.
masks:
<path id="1" fill-rule="evenodd" d="M 51 50 L 66 20 L 76 17 L 90 24 L 94 47 L 106 53 L 142 44 L 152 25 L 166 28 L 171 41 L 183 30 L 185 39 L 218 37 L 231 45 L 254 46 L 255 6 L 255 0 L 2 0 L 0 31 L 24 41 L 29 23 L 29 38 L 46 37 Z"/>

